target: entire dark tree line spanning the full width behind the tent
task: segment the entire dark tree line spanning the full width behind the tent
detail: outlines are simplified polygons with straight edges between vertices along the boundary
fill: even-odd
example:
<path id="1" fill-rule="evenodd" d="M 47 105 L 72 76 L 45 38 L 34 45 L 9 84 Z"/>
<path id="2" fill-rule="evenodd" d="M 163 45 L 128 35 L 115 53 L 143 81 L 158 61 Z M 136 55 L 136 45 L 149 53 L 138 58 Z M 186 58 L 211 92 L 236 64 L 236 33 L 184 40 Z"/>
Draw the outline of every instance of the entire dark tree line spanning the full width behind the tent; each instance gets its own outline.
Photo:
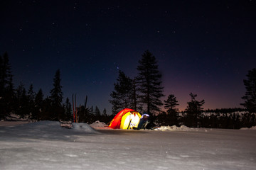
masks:
<path id="1" fill-rule="evenodd" d="M 243 80 L 246 93 L 241 103 L 244 108 L 215 109 L 204 111 L 204 100 L 198 101 L 196 94 L 189 94 L 191 101 L 185 111 L 178 111 L 178 101 L 174 94 L 164 97 L 161 73 L 158 69 L 156 57 L 146 50 L 142 54 L 137 66 L 137 77 L 130 78 L 119 70 L 114 91 L 110 94 L 112 115 L 107 115 L 106 109 L 100 112 L 92 106 L 78 106 L 74 109 L 70 99 L 65 98 L 60 84 L 60 69 L 55 72 L 53 89 L 50 96 L 44 97 L 43 90 L 33 91 L 33 84 L 26 90 L 21 83 L 14 88 L 11 64 L 7 52 L 0 56 L 0 118 L 4 119 L 10 113 L 16 113 L 21 118 L 33 120 L 73 120 L 74 111 L 78 115 L 78 122 L 93 123 L 100 120 L 109 123 L 119 111 L 132 108 L 139 113 L 148 113 L 151 123 L 155 125 L 187 125 L 189 127 L 205 128 L 240 128 L 255 125 L 256 113 L 256 69 L 248 72 L 247 79 Z M 162 106 L 166 111 L 162 111 Z M 237 109 L 240 112 L 237 112 Z M 242 111 L 242 114 L 241 114 Z M 210 114 L 208 114 L 210 113 Z"/>

